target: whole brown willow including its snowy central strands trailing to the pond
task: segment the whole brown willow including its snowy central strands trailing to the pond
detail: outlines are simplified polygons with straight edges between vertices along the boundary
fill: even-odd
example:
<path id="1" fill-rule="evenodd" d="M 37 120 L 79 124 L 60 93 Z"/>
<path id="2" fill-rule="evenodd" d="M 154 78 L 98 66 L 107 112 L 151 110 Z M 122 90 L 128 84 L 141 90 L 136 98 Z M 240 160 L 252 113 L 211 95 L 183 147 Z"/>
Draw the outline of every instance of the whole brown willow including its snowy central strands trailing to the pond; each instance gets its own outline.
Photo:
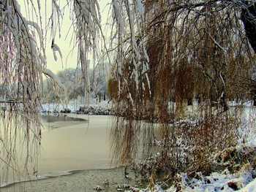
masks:
<path id="1" fill-rule="evenodd" d="M 143 49 L 148 55 L 146 79 L 149 85 L 143 84 L 146 79 L 142 75 L 139 81 L 132 78 L 136 74 L 132 72 L 135 69 L 134 52 L 129 47 L 129 41 L 135 41 L 130 39 L 130 35 L 126 37 L 132 23 L 127 15 L 129 9 L 123 1 L 113 1 L 113 4 L 124 5 L 121 9 L 114 9 L 118 16 L 115 15 L 113 20 L 121 23 L 121 27 L 115 28 L 117 33 L 111 36 L 116 40 L 113 41 L 116 45 L 121 45 L 113 46 L 118 53 L 116 61 L 121 62 L 113 63 L 113 74 L 116 76 L 112 76 L 109 83 L 112 93 L 116 92 L 113 93 L 117 104 L 114 108 L 116 115 L 123 117 L 118 118 L 122 121 L 116 122 L 116 134 L 113 134 L 118 143 L 114 146 L 115 157 L 123 162 L 134 161 L 133 154 L 138 150 L 135 135 L 142 130 L 141 125 L 135 125 L 138 119 L 161 123 L 162 145 L 169 154 L 171 147 L 180 142 L 177 133 L 182 129 L 171 123 L 187 118 L 184 116 L 184 106 L 192 104 L 192 99 L 197 99 L 198 103 L 210 110 L 200 114 L 199 118 L 203 121 L 197 127 L 203 129 L 204 124 L 213 131 L 215 125 L 212 122 L 216 120 L 220 123 L 218 130 L 222 135 L 219 139 L 213 139 L 212 143 L 219 145 L 225 142 L 225 147 L 233 145 L 233 130 L 226 134 L 232 135 L 230 138 L 222 137 L 225 135 L 222 131 L 227 127 L 222 127 L 221 122 L 227 120 L 227 100 L 250 98 L 250 90 L 246 88 L 244 80 L 252 77 L 252 66 L 255 64 L 255 36 L 252 35 L 255 34 L 255 1 L 143 1 L 144 23 L 135 39 L 137 45 L 143 42 Z M 136 7 L 136 3 L 132 6 Z M 118 18 L 119 15 L 124 18 Z M 124 32 L 124 27 L 128 27 L 125 30 L 128 32 Z M 138 82 L 146 87 L 137 89 Z M 145 92 L 147 88 L 148 93 Z M 140 107 L 137 107 L 137 101 Z M 214 115 L 215 112 L 223 116 Z M 154 137 L 152 126 L 148 126 L 146 131 Z M 205 137 L 210 140 L 207 134 Z M 201 141 L 194 139 L 195 142 Z M 144 144 L 143 147 L 148 146 L 148 143 Z M 211 147 L 204 144 L 201 142 L 198 149 Z M 211 149 L 212 152 L 214 149 Z M 197 158 L 196 155 L 194 158 Z"/>

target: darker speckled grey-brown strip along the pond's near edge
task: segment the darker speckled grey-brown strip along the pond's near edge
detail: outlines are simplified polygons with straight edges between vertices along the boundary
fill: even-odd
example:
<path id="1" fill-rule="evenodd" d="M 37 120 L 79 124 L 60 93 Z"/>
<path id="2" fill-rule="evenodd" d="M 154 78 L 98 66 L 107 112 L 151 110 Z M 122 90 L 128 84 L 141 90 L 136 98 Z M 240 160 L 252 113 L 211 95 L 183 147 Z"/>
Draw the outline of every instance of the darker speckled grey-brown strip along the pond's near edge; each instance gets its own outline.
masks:
<path id="1" fill-rule="evenodd" d="M 124 167 L 115 169 L 83 170 L 43 180 L 15 183 L 7 187 L 0 188 L 0 191 L 87 192 L 96 191 L 94 188 L 97 187 L 97 185 L 101 186 L 104 191 L 117 191 L 118 185 L 122 186 L 123 190 L 124 184 L 132 186 L 135 185 L 135 175 L 133 172 L 129 172 L 129 177 L 129 180 L 124 177 Z M 103 183 L 106 179 L 108 179 L 109 185 L 104 186 Z"/>

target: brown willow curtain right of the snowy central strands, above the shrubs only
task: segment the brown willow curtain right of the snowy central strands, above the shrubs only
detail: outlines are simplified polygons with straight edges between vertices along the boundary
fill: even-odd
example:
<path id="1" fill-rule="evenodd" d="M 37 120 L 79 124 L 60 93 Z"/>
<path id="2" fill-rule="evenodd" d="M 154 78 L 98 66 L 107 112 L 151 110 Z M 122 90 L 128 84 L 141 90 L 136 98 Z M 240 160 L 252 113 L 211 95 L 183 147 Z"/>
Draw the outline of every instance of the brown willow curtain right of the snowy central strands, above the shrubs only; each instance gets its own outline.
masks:
<path id="1" fill-rule="evenodd" d="M 254 64 L 254 44 L 250 47 L 247 42 L 255 39 L 246 38 L 249 28 L 240 18 L 246 12 L 246 22 L 252 23 L 253 33 L 254 13 L 243 1 L 147 1 L 145 6 L 151 79 L 157 80 L 157 74 L 161 77 L 166 72 L 167 77 L 175 77 L 160 88 L 173 90 L 167 97 L 178 103 L 197 96 L 225 108 L 225 97 L 232 97 L 237 77 L 251 75 L 248 69 Z M 187 88 L 181 88 L 179 79 L 186 81 L 183 85 L 188 83 Z M 162 79 L 151 81 L 157 82 L 162 83 Z M 203 93 L 200 87 L 205 88 Z M 159 91 L 158 85 L 155 90 Z"/>

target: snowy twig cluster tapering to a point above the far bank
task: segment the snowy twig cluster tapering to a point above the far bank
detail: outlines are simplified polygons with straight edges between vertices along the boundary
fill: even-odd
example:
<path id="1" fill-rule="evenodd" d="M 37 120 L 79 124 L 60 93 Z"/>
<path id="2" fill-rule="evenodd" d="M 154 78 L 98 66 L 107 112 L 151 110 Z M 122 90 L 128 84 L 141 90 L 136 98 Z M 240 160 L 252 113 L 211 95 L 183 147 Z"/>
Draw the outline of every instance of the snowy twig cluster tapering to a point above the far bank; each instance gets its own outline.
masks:
<path id="1" fill-rule="evenodd" d="M 78 64 L 83 72 L 85 82 L 85 97 L 89 104 L 89 52 L 93 52 L 94 58 L 97 55 L 98 35 L 100 26 L 99 4 L 97 0 L 74 1 L 73 25 L 75 28 L 75 42 L 78 46 Z"/>

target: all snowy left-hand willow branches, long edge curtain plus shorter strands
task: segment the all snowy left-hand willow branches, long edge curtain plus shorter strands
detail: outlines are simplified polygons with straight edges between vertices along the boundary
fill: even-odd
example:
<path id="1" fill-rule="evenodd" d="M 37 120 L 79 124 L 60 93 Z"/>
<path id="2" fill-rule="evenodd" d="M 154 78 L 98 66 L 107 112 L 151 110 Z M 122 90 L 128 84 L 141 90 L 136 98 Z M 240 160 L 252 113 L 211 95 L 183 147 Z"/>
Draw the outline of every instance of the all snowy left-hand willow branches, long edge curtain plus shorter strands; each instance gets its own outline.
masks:
<path id="1" fill-rule="evenodd" d="M 24 157 L 26 174 L 31 174 L 27 168 L 29 162 L 34 164 L 32 172 L 34 174 L 37 172 L 37 156 L 41 142 L 39 115 L 42 74 L 49 76 L 56 85 L 59 85 L 64 94 L 67 92 L 56 75 L 46 68 L 45 55 L 46 34 L 50 31 L 54 58 L 57 60 L 56 53 L 59 53 L 62 60 L 61 47 L 56 44 L 56 36 L 59 34 L 61 37 L 64 15 L 64 8 L 61 7 L 62 1 L 51 1 L 51 15 L 47 23 L 48 18 L 45 13 L 45 26 L 42 24 L 40 1 L 36 4 L 29 0 L 24 3 L 26 16 L 32 21 L 23 17 L 17 1 L 0 1 L 0 99 L 3 109 L 0 117 L 0 164 L 5 165 L 5 175 L 9 168 L 14 171 L 20 169 L 17 161 L 20 157 L 15 155 L 19 150 L 16 143 L 21 143 L 20 138 L 24 140 L 22 143 L 26 144 L 20 149 L 26 152 Z M 74 0 L 66 1 L 66 3 L 64 7 L 70 7 L 75 33 L 75 39 L 72 40 L 78 47 L 78 64 L 81 65 L 83 71 L 83 80 L 86 82 L 86 100 L 89 101 L 88 54 L 92 51 L 94 58 L 98 56 L 96 50 L 99 31 L 102 33 L 99 4 L 96 0 Z M 23 157 L 24 153 L 21 156 Z"/>

